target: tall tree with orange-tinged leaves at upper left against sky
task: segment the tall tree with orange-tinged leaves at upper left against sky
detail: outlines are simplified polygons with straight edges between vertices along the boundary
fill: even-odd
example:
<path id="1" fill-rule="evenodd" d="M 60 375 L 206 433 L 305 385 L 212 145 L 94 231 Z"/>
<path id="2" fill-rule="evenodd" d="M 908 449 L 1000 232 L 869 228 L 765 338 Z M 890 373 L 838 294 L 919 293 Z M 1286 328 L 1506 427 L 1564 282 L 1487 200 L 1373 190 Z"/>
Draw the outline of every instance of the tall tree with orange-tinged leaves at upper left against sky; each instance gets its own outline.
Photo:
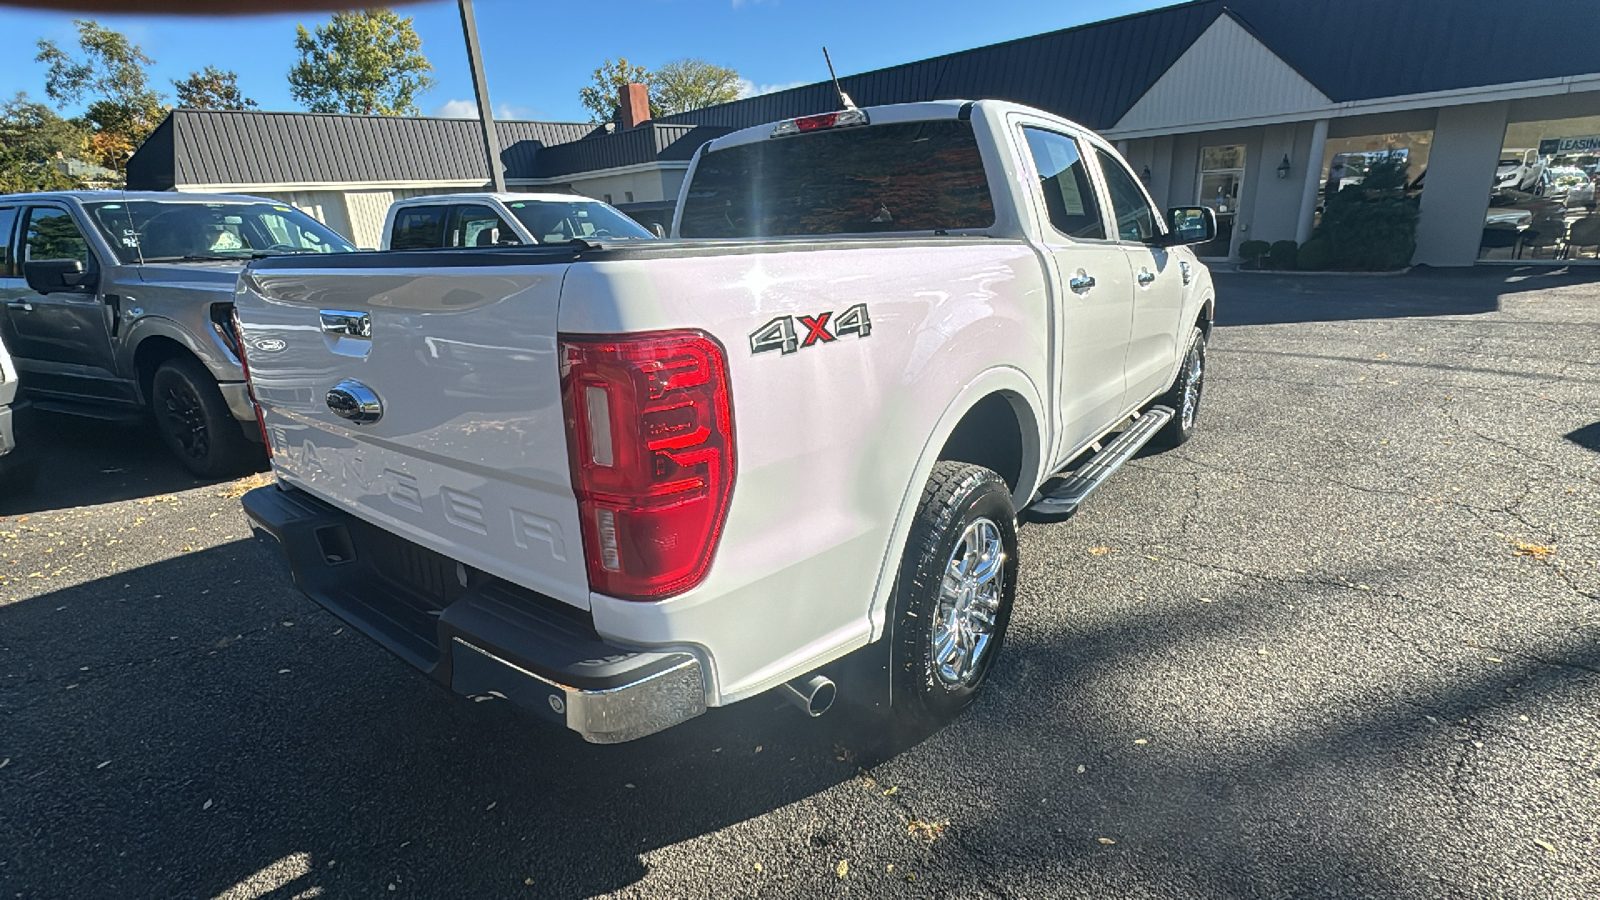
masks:
<path id="1" fill-rule="evenodd" d="M 90 123 L 90 151 L 96 160 L 123 171 L 128 155 L 155 130 L 166 109 L 160 91 L 150 88 L 146 70 L 154 62 L 128 40 L 93 19 L 74 19 L 78 50 L 72 56 L 53 40 L 38 42 L 35 62 L 43 62 L 45 93 L 58 106 L 88 99 L 83 120 Z"/>

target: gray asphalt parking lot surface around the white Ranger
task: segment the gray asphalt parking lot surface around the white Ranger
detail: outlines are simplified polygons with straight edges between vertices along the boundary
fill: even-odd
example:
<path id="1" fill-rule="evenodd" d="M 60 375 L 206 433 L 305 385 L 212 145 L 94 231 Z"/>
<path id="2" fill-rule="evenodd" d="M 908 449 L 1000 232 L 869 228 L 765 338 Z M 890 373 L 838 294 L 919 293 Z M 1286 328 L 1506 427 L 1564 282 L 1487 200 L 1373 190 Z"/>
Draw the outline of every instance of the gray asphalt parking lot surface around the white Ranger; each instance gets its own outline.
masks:
<path id="1" fill-rule="evenodd" d="M 0 897 L 1600 895 L 1600 272 L 1219 275 L 1200 434 L 1026 525 L 963 719 L 587 746 L 51 423 L 0 498 Z"/>

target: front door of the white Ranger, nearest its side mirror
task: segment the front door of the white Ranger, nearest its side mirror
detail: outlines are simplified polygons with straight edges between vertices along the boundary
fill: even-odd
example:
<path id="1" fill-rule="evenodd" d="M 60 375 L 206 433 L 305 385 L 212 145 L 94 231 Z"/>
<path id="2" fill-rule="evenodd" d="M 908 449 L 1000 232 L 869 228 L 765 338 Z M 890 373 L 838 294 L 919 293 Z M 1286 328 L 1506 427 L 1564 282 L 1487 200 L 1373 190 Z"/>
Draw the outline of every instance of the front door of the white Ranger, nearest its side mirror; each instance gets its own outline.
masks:
<path id="1" fill-rule="evenodd" d="M 1099 147 L 1094 149 L 1106 191 L 1110 195 L 1112 218 L 1117 223 L 1117 245 L 1128 256 L 1133 269 L 1133 328 L 1128 335 L 1128 404 L 1144 400 L 1165 391 L 1173 380 L 1178 360 L 1178 341 L 1184 311 L 1184 275 L 1173 250 L 1152 247 L 1150 240 L 1163 234 L 1160 213 L 1139 186 L 1128 165 Z M 1187 349 L 1187 348 L 1186 348 Z"/>

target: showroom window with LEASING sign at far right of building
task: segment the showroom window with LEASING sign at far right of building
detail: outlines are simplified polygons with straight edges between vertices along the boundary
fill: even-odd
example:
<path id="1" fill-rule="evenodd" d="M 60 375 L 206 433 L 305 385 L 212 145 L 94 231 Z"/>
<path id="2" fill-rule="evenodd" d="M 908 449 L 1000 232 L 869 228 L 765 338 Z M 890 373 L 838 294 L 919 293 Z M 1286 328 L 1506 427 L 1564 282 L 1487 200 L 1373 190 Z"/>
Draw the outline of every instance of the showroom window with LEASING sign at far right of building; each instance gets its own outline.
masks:
<path id="1" fill-rule="evenodd" d="M 1600 258 L 1600 115 L 1506 127 L 1478 259 Z"/>

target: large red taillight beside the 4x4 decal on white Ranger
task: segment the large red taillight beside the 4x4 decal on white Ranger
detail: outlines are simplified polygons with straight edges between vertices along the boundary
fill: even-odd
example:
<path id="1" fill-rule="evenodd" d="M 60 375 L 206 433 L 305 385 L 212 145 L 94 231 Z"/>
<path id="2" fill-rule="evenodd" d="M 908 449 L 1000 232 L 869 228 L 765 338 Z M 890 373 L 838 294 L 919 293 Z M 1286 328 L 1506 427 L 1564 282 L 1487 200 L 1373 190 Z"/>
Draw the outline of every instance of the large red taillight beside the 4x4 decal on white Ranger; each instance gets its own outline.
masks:
<path id="1" fill-rule="evenodd" d="M 590 589 L 658 601 L 699 585 L 733 496 L 722 344 L 562 335 L 562 404 Z"/>

